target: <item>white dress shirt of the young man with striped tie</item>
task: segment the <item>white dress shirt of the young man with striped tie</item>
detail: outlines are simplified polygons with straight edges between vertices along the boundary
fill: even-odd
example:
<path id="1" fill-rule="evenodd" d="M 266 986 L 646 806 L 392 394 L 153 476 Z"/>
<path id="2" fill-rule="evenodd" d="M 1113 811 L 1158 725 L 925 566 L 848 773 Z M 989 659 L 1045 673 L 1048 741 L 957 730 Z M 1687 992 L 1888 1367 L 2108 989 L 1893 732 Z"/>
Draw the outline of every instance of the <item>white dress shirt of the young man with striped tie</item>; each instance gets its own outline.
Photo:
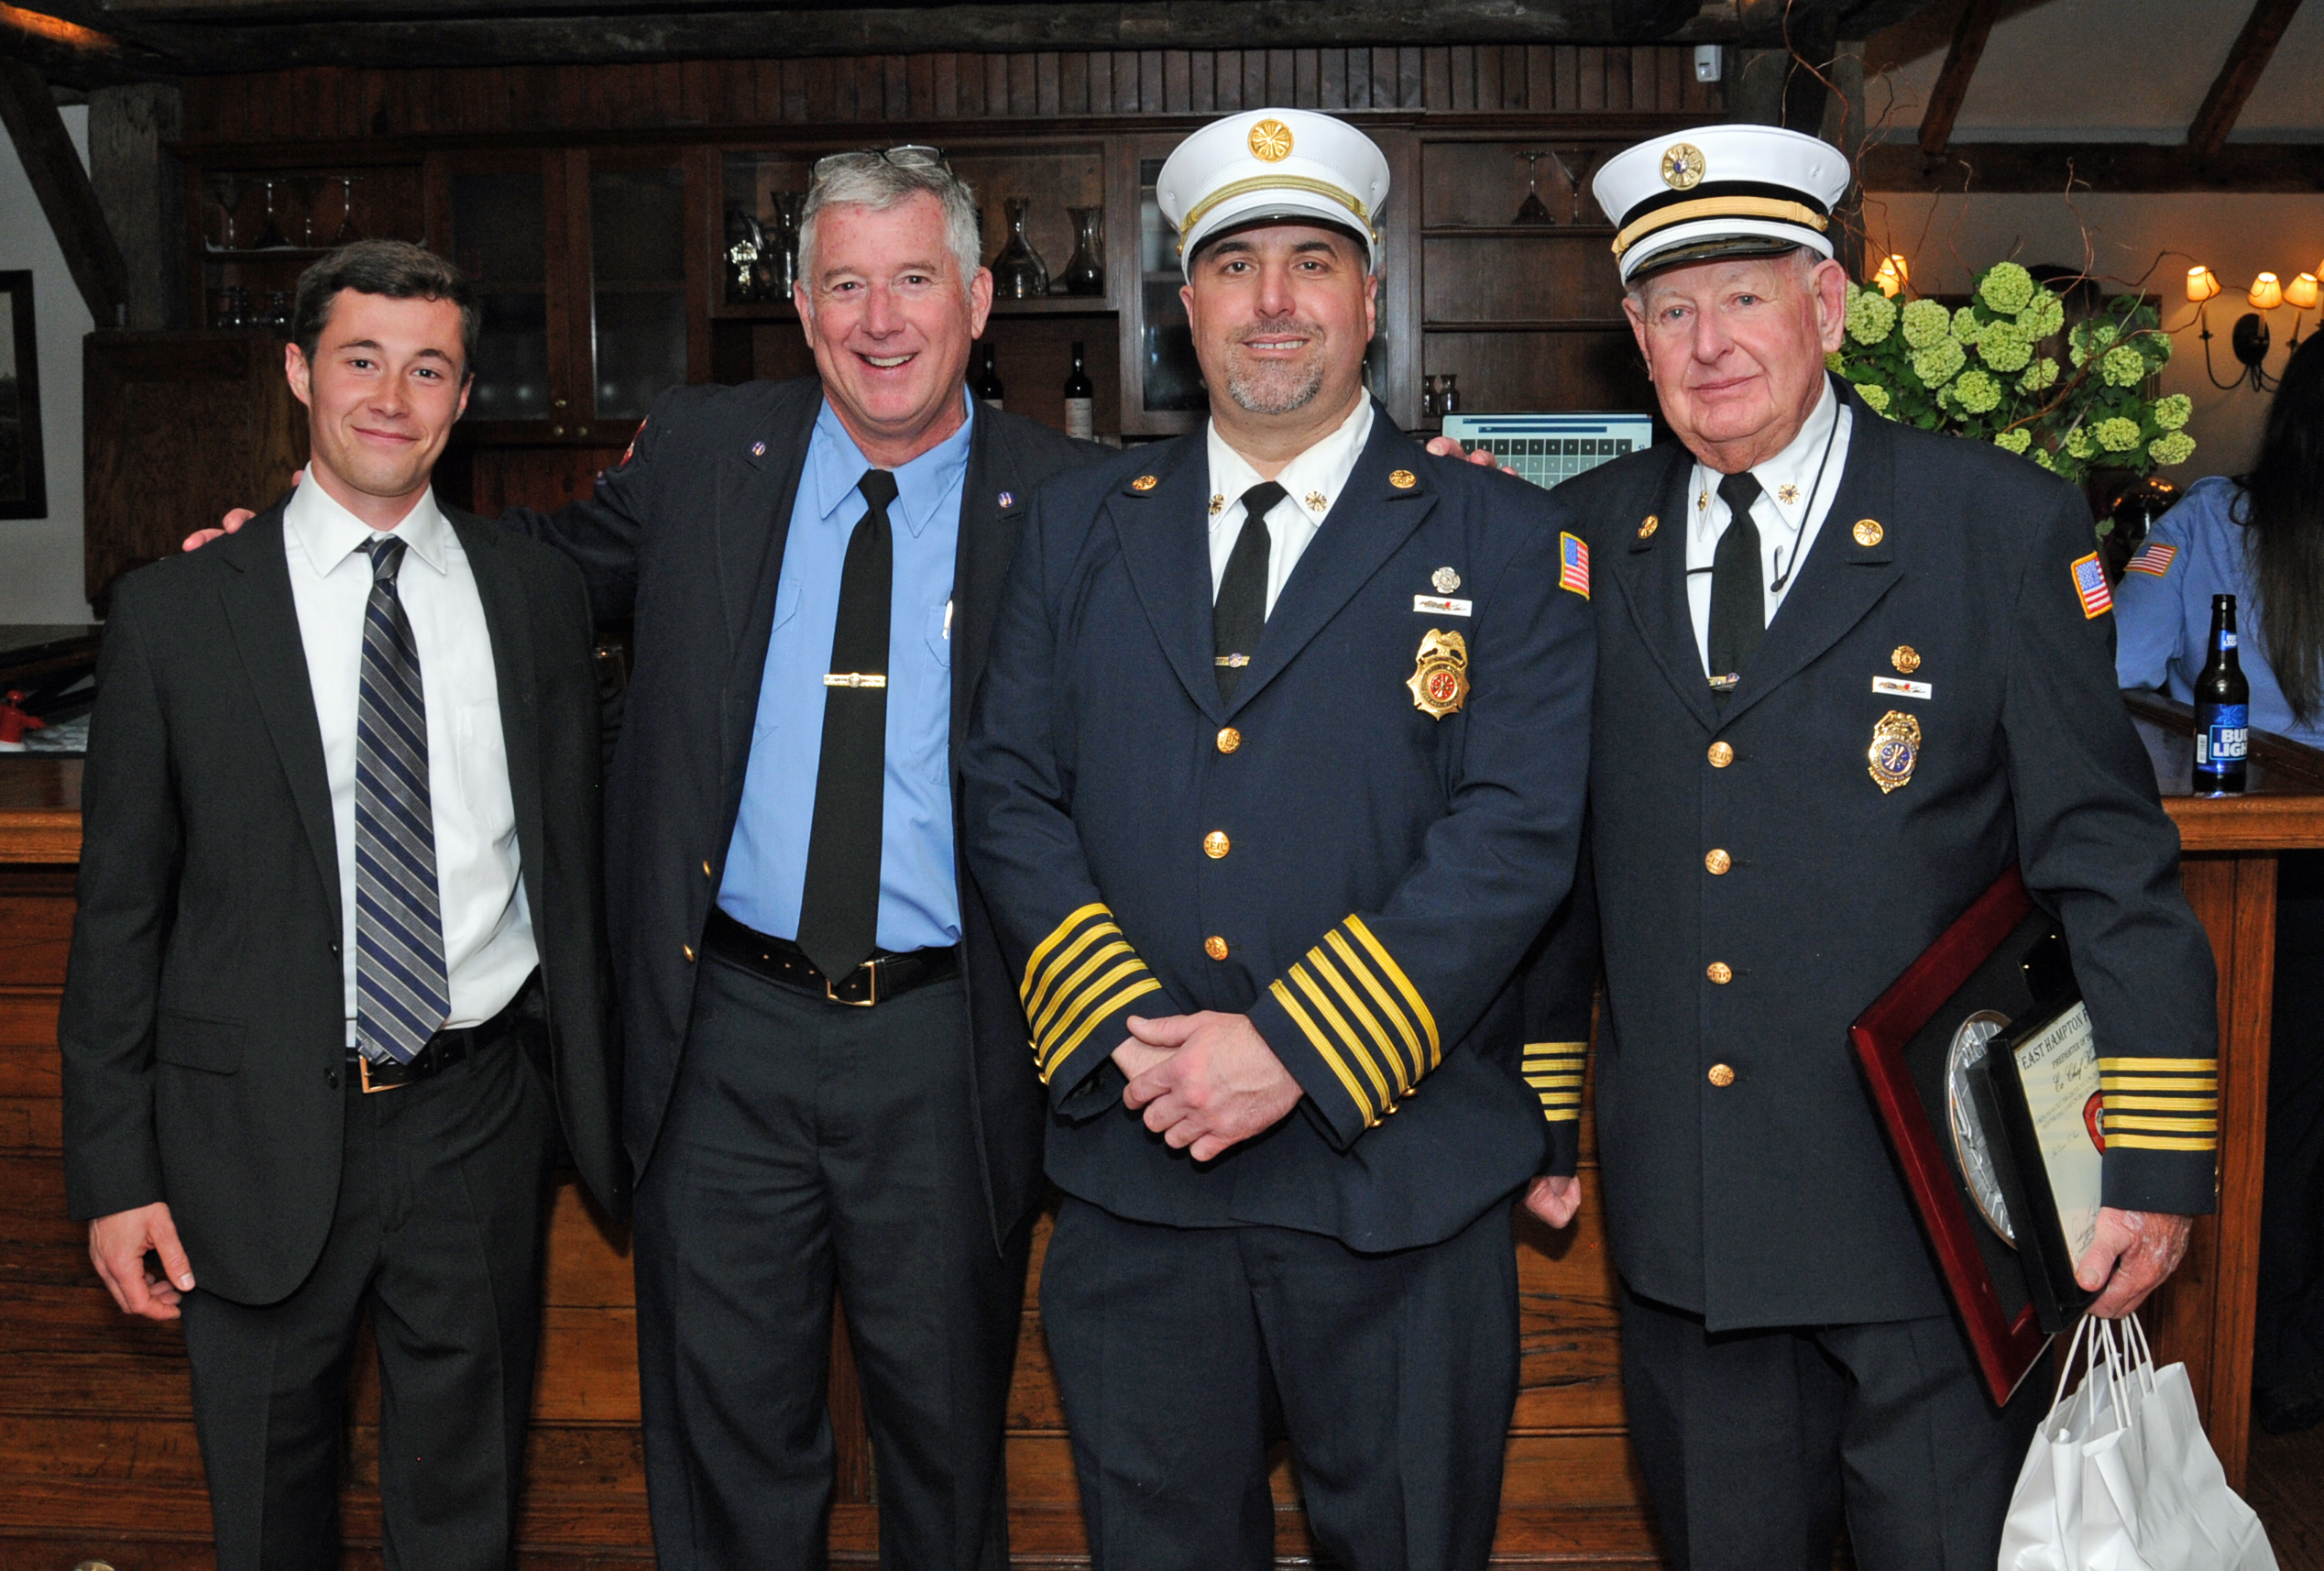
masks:
<path id="1" fill-rule="evenodd" d="M 539 964 L 516 851 L 509 748 L 500 734 L 493 634 L 476 574 L 428 493 L 395 525 L 404 565 L 395 588 L 411 620 L 428 704 L 428 802 L 435 811 L 437 899 L 444 916 L 446 1025 L 481 1025 L 507 1006 Z M 356 709 L 363 695 L 363 616 L 379 530 L 339 507 L 311 476 L 284 511 L 290 600 L 314 718 L 323 730 L 330 823 L 339 839 L 339 904 L 346 932 L 346 1046 L 356 1046 Z"/>

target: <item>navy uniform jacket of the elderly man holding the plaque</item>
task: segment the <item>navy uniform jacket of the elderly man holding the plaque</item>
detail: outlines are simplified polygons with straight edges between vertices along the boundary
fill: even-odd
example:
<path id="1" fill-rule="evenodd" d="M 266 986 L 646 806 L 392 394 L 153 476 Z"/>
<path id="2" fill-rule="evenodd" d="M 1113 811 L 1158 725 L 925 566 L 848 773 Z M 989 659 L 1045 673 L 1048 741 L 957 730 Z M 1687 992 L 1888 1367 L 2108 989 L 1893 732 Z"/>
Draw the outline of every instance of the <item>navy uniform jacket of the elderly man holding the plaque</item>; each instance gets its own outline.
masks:
<path id="1" fill-rule="evenodd" d="M 2103 1078 L 2108 1204 L 2212 1208 L 2212 955 L 2115 693 L 2103 579 L 2082 597 L 2089 507 L 2022 458 L 1848 397 L 1838 497 L 1724 713 L 1687 618 L 1685 449 L 1555 493 L 1599 572 L 1608 1227 L 1624 1281 L 1710 1329 L 1945 1313 L 1848 1025 L 2010 862 L 2064 923 L 2099 1050 L 2122 1060 Z M 1875 688 L 1906 676 L 1927 695 Z M 1868 751 L 1892 711 L 1920 744 L 1882 790 Z"/>

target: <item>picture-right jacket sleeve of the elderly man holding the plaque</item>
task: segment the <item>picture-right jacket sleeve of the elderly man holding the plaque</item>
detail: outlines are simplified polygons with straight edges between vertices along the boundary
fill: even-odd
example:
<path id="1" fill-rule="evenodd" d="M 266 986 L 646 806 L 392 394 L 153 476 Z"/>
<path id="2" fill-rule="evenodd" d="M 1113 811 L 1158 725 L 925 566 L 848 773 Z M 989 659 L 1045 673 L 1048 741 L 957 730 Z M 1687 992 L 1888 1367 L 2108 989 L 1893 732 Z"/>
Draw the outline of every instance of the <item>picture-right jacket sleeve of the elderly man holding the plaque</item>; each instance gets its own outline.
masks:
<path id="1" fill-rule="evenodd" d="M 2219 1018 L 2210 939 L 2180 892 L 2178 830 L 2115 688 L 2113 616 L 2087 616 L 2073 562 L 2089 511 L 2057 488 L 2017 586 L 2001 725 L 2017 858 L 2057 911 L 2099 1034 L 2106 1204 L 2217 1204 Z"/>

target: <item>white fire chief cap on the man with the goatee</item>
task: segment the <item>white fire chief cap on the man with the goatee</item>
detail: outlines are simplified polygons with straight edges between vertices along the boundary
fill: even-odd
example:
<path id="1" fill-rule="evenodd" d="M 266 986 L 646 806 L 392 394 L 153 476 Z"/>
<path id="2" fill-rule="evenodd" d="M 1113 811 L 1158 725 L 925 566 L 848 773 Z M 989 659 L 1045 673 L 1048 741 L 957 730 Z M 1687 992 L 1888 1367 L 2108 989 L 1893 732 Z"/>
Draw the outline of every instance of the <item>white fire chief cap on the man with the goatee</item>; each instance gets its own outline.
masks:
<path id="1" fill-rule="evenodd" d="M 1246 109 L 1181 142 L 1155 184 L 1178 230 L 1178 267 L 1202 242 L 1253 223 L 1322 223 L 1364 242 L 1380 263 L 1387 156 L 1346 121 L 1313 109 Z"/>

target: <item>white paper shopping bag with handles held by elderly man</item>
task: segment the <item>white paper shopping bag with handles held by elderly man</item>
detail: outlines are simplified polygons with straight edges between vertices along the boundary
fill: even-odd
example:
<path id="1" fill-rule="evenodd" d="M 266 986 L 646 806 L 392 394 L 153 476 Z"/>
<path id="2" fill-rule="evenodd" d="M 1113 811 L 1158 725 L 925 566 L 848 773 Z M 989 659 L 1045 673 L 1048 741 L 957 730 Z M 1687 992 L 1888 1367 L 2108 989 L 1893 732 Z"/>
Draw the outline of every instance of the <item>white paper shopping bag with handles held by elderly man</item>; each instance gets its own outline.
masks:
<path id="1" fill-rule="evenodd" d="M 2066 1397 L 2075 1362 L 2082 1390 Z M 2085 1318 L 2017 1473 L 1999 1571 L 2275 1571 L 2226 1487 L 2187 1366 L 2154 1369 L 2138 1318 Z"/>

